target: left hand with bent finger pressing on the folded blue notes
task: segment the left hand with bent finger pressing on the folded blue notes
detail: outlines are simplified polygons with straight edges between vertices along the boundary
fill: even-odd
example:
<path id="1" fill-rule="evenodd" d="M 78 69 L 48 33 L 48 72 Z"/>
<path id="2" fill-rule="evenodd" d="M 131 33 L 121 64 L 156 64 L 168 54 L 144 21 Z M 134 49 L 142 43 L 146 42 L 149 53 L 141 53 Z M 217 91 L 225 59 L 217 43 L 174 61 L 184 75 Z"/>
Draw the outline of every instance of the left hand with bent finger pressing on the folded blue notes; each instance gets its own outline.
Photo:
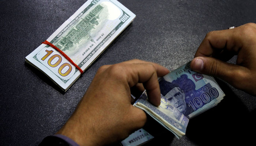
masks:
<path id="1" fill-rule="evenodd" d="M 57 134 L 79 145 L 105 145 L 144 126 L 146 114 L 131 104 L 130 88 L 143 83 L 150 102 L 160 105 L 158 76 L 169 73 L 151 62 L 134 59 L 98 69 L 76 111 Z"/>

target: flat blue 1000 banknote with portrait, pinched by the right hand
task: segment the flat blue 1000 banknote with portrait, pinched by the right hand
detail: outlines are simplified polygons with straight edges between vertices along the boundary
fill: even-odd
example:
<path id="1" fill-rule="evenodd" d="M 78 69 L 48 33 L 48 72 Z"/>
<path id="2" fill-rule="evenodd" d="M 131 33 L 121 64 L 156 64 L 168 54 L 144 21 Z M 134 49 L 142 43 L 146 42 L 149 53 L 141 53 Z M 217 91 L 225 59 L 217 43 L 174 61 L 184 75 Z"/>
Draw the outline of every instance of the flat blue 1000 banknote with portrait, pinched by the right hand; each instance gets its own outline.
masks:
<path id="1" fill-rule="evenodd" d="M 182 114 L 192 118 L 225 96 L 213 77 L 193 72 L 190 62 L 159 79 L 161 94 Z"/>

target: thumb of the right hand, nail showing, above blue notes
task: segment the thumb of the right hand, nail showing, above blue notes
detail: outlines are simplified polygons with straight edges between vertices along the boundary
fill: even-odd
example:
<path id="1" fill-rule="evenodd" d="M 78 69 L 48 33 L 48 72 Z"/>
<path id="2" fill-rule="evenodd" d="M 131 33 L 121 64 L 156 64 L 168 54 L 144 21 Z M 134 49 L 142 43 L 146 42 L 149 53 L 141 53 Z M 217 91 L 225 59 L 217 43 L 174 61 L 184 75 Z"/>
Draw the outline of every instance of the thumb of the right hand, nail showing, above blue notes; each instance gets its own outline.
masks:
<path id="1" fill-rule="evenodd" d="M 229 64 L 212 57 L 196 57 L 191 61 L 190 68 L 195 72 L 219 77 L 232 86 L 242 89 L 248 70 L 244 66 Z"/>

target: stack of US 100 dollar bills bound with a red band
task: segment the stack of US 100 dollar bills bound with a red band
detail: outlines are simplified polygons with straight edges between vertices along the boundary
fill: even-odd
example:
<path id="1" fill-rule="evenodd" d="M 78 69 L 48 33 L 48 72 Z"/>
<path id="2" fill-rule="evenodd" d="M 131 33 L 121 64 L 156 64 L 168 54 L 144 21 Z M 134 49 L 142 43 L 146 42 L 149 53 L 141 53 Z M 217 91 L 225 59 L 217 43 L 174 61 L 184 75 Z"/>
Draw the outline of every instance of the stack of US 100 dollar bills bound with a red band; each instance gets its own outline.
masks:
<path id="1" fill-rule="evenodd" d="M 88 0 L 47 41 L 84 71 L 135 16 L 117 0 Z M 64 91 L 81 75 L 63 55 L 45 44 L 27 55 L 26 62 L 44 72 Z"/>

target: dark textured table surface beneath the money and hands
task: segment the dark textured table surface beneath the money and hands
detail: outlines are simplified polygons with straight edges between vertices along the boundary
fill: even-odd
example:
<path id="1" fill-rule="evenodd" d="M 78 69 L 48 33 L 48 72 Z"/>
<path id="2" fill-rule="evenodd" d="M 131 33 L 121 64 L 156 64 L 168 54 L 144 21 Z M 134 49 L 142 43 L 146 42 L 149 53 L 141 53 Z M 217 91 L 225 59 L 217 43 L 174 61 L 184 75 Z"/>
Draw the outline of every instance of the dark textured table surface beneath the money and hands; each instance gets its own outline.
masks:
<path id="1" fill-rule="evenodd" d="M 120 0 L 135 20 L 66 93 L 25 57 L 61 26 L 85 0 L 0 1 L 0 145 L 38 145 L 68 120 L 97 69 L 133 58 L 174 70 L 193 59 L 208 31 L 256 22 L 255 0 Z M 232 58 L 230 62 L 235 62 Z M 210 145 L 254 142 L 256 97 L 217 79 L 226 96 L 191 119 L 184 137 L 146 127 L 147 145 Z M 151 127 L 151 128 L 149 128 Z"/>

